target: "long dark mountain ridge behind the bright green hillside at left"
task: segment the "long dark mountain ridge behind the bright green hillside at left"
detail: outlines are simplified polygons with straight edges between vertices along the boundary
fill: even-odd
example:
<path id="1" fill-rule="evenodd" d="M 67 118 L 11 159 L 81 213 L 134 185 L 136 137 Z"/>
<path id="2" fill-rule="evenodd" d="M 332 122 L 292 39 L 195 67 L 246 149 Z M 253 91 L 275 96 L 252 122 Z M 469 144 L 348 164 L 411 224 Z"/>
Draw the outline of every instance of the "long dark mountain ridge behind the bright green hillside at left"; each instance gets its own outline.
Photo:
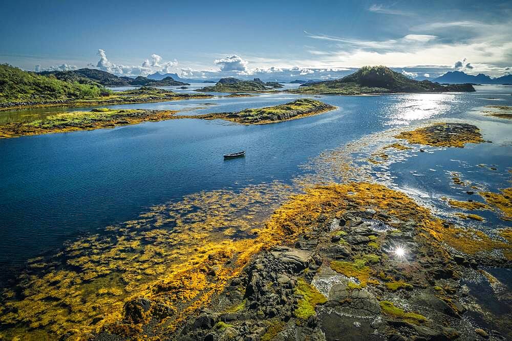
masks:
<path id="1" fill-rule="evenodd" d="M 53 75 L 55 78 L 63 81 L 78 82 L 81 84 L 101 84 L 103 86 L 180 86 L 190 85 L 180 82 L 173 77 L 166 76 L 156 80 L 143 76 L 120 77 L 111 73 L 97 69 L 78 69 L 73 71 L 43 71 L 39 73 L 42 76 Z M 177 75 L 176 75 L 177 76 Z M 179 77 L 178 77 L 179 78 Z"/>

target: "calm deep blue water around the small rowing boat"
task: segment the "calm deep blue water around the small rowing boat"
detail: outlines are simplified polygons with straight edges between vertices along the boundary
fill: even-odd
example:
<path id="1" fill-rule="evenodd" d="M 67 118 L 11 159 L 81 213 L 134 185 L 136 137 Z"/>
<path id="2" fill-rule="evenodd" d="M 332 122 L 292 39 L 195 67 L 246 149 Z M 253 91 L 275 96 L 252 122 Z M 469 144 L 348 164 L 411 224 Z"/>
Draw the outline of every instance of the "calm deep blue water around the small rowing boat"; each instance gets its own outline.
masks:
<path id="1" fill-rule="evenodd" d="M 289 183 L 304 172 L 301 165 L 324 150 L 426 119 L 481 121 L 485 139 L 495 143 L 452 148 L 395 164 L 395 183 L 425 193 L 450 192 L 449 176 L 441 173 L 457 171 L 458 163 L 446 160 L 459 157 L 470 159 L 472 167 L 499 165 L 498 173 L 505 174 L 505 167 L 512 166 L 510 121 L 482 117 L 472 110 L 512 105 L 510 93 L 510 86 L 479 86 L 471 94 L 324 96 L 319 100 L 339 109 L 279 124 L 243 126 L 184 119 L 0 140 L 0 267 L 23 264 L 55 251 L 68 239 L 134 219 L 148 207 L 186 194 L 239 189 L 274 179 Z M 199 108 L 185 112 L 190 115 L 281 104 L 297 97 L 264 94 L 115 107 Z M 15 113 L 0 112 L 0 119 L 9 115 Z M 245 158 L 223 160 L 222 154 L 239 150 L 247 150 Z M 441 164 L 441 158 L 449 165 Z M 436 176 L 444 183 L 430 175 L 411 175 L 411 171 L 428 174 L 434 165 L 443 166 Z M 487 179 L 491 189 L 509 187 L 504 175 L 481 174 L 479 179 Z"/>

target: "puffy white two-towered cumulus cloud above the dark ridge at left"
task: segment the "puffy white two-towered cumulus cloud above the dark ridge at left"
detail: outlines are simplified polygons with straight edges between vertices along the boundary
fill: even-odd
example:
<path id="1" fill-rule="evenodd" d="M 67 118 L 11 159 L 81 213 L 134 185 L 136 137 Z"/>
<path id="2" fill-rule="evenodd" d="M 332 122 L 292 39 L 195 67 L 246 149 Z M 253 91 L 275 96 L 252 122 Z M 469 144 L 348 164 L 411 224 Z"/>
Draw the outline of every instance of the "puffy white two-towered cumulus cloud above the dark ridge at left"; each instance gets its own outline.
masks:
<path id="1" fill-rule="evenodd" d="M 152 54 L 151 60 L 145 59 L 141 66 L 115 64 L 106 57 L 106 52 L 102 49 L 98 50 L 98 56 L 99 60 L 96 64 L 98 69 L 124 76 L 149 75 L 155 72 L 170 73 L 173 71 L 173 66 L 178 63 L 176 59 L 174 61 L 162 62 L 161 56 Z"/>

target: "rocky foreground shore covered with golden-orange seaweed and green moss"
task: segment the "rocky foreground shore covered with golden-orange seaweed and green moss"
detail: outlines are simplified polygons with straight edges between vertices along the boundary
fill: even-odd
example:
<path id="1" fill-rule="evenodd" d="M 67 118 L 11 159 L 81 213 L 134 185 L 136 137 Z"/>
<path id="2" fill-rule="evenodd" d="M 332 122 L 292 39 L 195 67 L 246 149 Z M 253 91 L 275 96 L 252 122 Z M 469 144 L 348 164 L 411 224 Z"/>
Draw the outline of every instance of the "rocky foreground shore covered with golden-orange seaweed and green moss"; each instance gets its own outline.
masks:
<path id="1" fill-rule="evenodd" d="M 391 139 L 375 155 L 386 151 L 391 160 L 392 150 L 484 142 L 476 125 L 461 122 L 393 134 L 403 141 Z M 450 177 L 457 186 L 475 185 Z M 298 193 L 277 182 L 199 193 L 31 260 L 16 288 L 3 292 L 2 336 L 512 338 L 512 298 L 497 275 L 512 267 L 510 228 L 484 233 L 371 179 L 299 182 Z M 507 221 L 510 189 L 474 190 L 481 201 L 447 198 L 447 205 L 467 217 L 484 206 Z M 260 220 L 265 211 L 273 213 Z"/>

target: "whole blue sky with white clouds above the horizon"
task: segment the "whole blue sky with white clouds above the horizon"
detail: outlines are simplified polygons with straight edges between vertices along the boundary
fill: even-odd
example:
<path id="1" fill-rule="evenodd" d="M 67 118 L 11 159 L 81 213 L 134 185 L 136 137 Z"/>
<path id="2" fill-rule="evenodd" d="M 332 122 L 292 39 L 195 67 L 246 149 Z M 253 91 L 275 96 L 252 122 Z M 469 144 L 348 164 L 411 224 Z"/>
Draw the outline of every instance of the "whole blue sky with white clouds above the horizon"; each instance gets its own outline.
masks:
<path id="1" fill-rule="evenodd" d="M 3 2 L 0 62 L 118 75 L 337 78 L 512 73 L 512 1 Z M 262 77 L 264 76 L 264 77 Z"/>

